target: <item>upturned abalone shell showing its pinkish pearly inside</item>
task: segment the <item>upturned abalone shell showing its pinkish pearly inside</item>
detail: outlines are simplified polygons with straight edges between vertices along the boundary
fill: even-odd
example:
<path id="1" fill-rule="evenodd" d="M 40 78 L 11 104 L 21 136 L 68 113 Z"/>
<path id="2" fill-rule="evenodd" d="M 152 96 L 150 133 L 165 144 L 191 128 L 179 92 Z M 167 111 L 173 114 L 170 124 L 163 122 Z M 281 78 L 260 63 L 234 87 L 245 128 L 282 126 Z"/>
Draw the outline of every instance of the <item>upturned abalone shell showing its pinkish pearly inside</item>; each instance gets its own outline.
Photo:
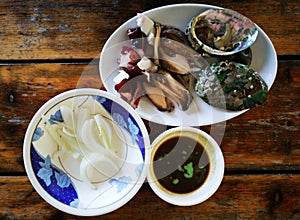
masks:
<path id="1" fill-rule="evenodd" d="M 191 19 L 186 34 L 195 50 L 232 55 L 250 47 L 258 29 L 247 17 L 231 9 L 209 9 Z"/>

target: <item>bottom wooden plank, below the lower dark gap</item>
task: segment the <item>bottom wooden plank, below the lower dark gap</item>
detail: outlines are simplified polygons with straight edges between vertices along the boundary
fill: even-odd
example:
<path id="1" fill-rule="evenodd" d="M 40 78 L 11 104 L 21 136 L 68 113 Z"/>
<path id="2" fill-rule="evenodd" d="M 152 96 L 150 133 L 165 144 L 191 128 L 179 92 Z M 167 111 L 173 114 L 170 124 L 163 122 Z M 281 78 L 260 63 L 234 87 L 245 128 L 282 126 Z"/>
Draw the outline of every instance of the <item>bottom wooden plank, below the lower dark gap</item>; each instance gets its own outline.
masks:
<path id="1" fill-rule="evenodd" d="M 204 203 L 177 207 L 145 183 L 125 206 L 101 219 L 299 219 L 299 196 L 299 175 L 229 175 Z M 0 198 L 0 219 L 81 219 L 47 204 L 27 177 L 0 177 Z"/>

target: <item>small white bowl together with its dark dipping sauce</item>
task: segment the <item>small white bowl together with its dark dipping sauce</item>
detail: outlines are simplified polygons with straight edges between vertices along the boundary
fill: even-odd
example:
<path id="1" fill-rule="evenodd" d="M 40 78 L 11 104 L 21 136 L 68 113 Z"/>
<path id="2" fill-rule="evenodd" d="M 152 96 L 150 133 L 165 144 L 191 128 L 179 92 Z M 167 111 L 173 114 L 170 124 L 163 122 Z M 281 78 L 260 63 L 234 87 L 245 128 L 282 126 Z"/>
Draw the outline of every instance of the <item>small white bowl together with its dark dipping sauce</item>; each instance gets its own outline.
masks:
<path id="1" fill-rule="evenodd" d="M 164 201 L 191 206 L 217 191 L 224 167 L 222 151 L 210 135 L 193 127 L 176 127 L 153 141 L 147 180 Z"/>

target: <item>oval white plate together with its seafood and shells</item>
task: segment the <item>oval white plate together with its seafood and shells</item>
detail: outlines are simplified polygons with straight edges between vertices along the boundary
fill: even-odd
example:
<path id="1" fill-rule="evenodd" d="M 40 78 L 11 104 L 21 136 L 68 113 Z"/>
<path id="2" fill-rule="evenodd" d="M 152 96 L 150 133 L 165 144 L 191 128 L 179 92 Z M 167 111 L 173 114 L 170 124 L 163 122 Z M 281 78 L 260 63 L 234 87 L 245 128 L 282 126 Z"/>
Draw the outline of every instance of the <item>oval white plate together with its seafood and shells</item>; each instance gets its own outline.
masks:
<path id="1" fill-rule="evenodd" d="M 266 102 L 275 49 L 249 18 L 200 4 L 165 6 L 121 25 L 100 76 L 146 120 L 171 126 L 226 121 Z"/>

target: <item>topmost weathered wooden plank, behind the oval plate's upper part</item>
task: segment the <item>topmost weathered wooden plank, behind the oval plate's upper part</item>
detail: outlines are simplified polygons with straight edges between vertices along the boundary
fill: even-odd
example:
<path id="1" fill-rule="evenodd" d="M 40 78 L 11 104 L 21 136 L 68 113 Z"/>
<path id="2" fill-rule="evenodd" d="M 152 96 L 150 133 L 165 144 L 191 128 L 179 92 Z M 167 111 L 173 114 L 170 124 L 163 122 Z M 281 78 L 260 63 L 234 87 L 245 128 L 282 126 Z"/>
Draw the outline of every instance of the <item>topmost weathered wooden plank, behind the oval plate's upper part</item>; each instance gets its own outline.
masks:
<path id="1" fill-rule="evenodd" d="M 257 23 L 280 55 L 300 54 L 299 2 L 185 1 L 232 8 Z M 167 1 L 2 1 L 0 60 L 94 58 L 123 22 Z"/>

